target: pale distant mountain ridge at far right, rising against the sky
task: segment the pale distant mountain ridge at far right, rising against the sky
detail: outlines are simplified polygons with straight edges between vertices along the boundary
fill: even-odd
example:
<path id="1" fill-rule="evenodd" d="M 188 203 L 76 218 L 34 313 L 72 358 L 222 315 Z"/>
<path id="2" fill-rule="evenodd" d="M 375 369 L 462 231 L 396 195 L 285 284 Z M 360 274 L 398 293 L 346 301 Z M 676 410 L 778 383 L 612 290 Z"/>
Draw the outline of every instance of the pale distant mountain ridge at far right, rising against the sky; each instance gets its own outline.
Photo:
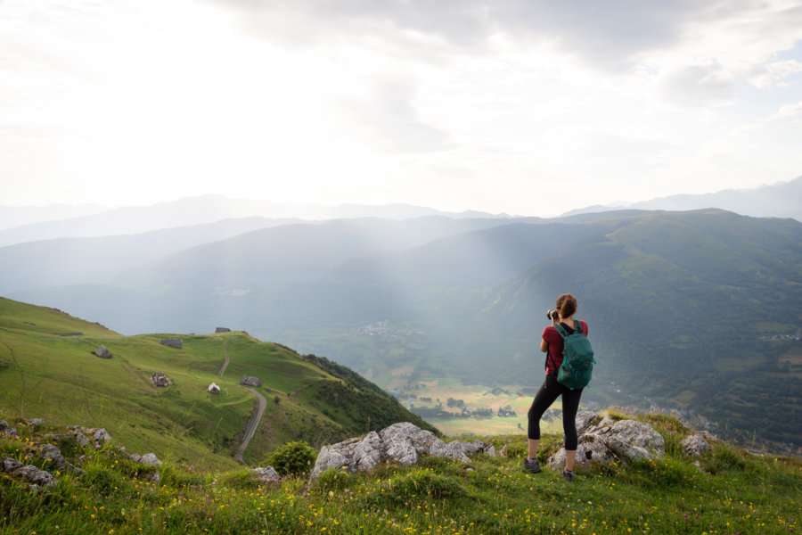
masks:
<path id="1" fill-rule="evenodd" d="M 616 209 L 681 211 L 706 208 L 718 208 L 757 218 L 794 218 L 802 221 L 802 177 L 752 189 L 671 195 L 616 207 L 590 206 L 571 210 L 563 216 Z"/>

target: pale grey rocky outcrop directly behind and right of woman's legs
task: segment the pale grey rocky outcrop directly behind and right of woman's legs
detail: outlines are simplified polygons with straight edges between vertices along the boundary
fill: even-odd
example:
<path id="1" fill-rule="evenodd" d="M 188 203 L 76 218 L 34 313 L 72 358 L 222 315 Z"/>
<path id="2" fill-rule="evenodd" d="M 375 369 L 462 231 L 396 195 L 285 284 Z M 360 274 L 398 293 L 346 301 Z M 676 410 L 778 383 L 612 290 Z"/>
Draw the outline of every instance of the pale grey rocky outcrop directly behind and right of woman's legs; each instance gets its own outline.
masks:
<path id="1" fill-rule="evenodd" d="M 626 462 L 662 458 L 666 455 L 665 442 L 659 432 L 649 424 L 634 420 L 614 420 L 610 416 L 600 419 L 588 411 L 577 414 L 577 462 L 597 461 L 602 464 L 615 460 Z M 552 470 L 565 466 L 565 449 L 549 457 Z"/>

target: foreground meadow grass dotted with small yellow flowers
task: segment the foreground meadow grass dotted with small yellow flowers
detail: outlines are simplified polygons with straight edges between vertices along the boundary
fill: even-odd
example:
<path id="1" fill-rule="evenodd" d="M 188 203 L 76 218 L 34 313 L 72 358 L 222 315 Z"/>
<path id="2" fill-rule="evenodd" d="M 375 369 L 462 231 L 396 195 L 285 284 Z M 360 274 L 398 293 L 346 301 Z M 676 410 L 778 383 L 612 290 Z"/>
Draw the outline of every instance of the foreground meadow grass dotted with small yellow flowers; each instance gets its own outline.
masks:
<path id="1" fill-rule="evenodd" d="M 0 456 L 47 468 L 43 431 L 18 426 Z M 661 433 L 668 433 L 661 430 Z M 726 443 L 691 459 L 577 465 L 571 484 L 521 467 L 523 435 L 495 437 L 508 457 L 464 465 L 421 458 L 371 473 L 331 470 L 315 482 L 260 484 L 248 469 L 208 472 L 133 463 L 114 446 L 71 449 L 85 473 L 33 493 L 0 475 L 0 534 L 17 533 L 793 533 L 802 461 L 758 457 Z M 561 446 L 544 435 L 541 457 Z M 27 458 L 26 458 L 27 457 Z M 159 475 L 158 481 L 155 476 Z"/>

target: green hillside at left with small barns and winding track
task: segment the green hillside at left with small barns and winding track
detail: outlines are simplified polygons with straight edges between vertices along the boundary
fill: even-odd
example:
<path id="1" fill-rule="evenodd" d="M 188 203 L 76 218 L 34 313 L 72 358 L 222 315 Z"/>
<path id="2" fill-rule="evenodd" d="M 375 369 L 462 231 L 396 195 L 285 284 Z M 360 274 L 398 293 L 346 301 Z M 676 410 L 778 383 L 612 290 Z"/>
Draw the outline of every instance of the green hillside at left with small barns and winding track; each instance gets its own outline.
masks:
<path id="1" fill-rule="evenodd" d="M 160 343 L 173 338 L 182 340 L 181 349 Z M 112 358 L 94 355 L 101 345 Z M 158 372 L 170 386 L 151 382 Z M 397 421 L 434 431 L 347 368 L 247 333 L 122 336 L 58 310 L 0 298 L 0 419 L 105 427 L 133 451 L 231 468 L 256 407 L 253 393 L 239 384 L 242 375 L 261 379 L 263 387 L 254 390 L 267 399 L 246 462 L 258 463 L 289 440 L 319 447 Z M 212 382 L 220 394 L 206 391 Z"/>

